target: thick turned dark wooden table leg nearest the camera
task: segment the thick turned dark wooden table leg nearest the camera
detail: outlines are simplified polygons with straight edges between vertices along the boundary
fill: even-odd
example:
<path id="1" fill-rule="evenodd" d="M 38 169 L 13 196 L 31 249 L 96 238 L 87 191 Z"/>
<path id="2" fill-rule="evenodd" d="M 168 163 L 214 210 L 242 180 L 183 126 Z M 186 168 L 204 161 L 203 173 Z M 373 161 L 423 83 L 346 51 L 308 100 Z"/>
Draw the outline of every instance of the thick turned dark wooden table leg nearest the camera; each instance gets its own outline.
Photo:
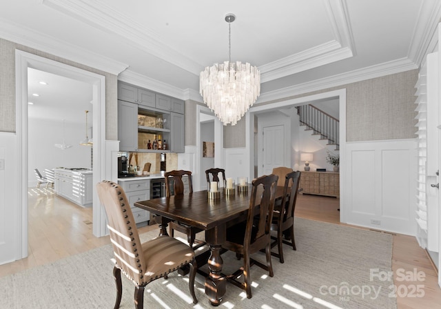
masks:
<path id="1" fill-rule="evenodd" d="M 205 240 L 211 251 L 208 259 L 209 277 L 205 278 L 205 294 L 212 306 L 219 306 L 226 292 L 227 280 L 221 274 L 223 259 L 220 257 L 220 244 L 225 241 L 225 232 L 225 225 L 205 232 Z"/>

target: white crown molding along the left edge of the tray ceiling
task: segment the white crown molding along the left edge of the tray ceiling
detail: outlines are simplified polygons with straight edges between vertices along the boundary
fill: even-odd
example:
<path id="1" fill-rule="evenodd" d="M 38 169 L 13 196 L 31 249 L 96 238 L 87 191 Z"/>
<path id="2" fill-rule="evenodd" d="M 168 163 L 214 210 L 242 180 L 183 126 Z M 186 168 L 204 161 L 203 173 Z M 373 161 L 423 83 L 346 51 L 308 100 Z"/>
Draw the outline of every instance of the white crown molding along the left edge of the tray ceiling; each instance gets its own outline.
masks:
<path id="1" fill-rule="evenodd" d="M 44 0 L 43 4 L 68 14 L 74 19 L 86 21 L 90 25 L 111 34 L 130 40 L 131 43 L 159 59 L 174 64 L 183 70 L 198 75 L 203 65 L 185 57 L 167 46 L 160 36 L 145 28 L 121 12 L 113 10 L 105 1 Z"/>

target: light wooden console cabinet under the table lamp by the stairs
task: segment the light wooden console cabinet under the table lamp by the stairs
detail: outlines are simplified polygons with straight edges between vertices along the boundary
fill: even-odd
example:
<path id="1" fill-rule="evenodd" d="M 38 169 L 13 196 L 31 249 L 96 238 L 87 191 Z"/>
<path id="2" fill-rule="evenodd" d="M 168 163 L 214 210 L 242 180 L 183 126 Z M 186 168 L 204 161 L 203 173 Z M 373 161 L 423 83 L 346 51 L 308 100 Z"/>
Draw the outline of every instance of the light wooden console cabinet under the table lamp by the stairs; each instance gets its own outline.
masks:
<path id="1" fill-rule="evenodd" d="M 340 174 L 338 172 L 301 172 L 300 193 L 340 197 Z"/>

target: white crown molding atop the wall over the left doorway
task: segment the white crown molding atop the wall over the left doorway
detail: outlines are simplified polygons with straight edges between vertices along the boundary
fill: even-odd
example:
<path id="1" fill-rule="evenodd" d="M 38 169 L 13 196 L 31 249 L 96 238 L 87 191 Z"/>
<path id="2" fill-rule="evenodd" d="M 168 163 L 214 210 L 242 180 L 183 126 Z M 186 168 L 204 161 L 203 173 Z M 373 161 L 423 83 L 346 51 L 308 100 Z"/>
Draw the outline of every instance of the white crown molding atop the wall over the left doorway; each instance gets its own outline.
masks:
<path id="1" fill-rule="evenodd" d="M 0 19 L 0 37 L 114 75 L 118 75 L 128 67 L 125 63 L 103 57 L 101 54 L 94 54 L 89 50 L 73 46 L 65 41 L 59 41 L 10 21 L 6 22 L 3 19 Z"/>

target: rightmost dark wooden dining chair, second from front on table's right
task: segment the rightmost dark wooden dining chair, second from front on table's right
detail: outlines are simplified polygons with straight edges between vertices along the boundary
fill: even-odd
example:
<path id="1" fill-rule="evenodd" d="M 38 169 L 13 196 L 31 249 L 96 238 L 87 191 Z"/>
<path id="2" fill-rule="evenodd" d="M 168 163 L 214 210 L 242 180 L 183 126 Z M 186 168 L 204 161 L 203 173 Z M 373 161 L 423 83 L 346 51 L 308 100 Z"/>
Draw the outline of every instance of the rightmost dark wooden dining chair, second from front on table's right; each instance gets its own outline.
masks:
<path id="1" fill-rule="evenodd" d="M 300 172 L 290 172 L 285 175 L 282 203 L 274 208 L 271 230 L 276 231 L 277 236 L 271 235 L 271 249 L 277 246 L 278 252 L 271 251 L 271 255 L 278 257 L 280 263 L 284 263 L 283 243 L 291 245 L 292 249 L 296 250 L 296 241 L 294 241 L 294 209 L 296 208 L 299 183 Z M 285 239 L 283 239 L 284 237 Z"/>

